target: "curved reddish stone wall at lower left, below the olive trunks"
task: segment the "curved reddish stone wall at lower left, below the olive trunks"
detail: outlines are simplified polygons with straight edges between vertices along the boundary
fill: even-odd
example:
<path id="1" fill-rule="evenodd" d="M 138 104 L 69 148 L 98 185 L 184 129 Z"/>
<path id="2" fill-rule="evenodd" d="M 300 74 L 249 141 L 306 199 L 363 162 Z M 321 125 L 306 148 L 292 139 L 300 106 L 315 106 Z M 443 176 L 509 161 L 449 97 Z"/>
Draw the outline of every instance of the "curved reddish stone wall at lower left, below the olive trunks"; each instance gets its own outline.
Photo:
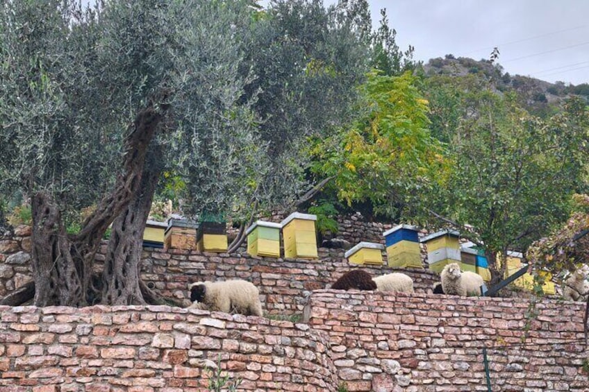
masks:
<path id="1" fill-rule="evenodd" d="M 217 363 L 239 391 L 337 389 L 328 338 L 306 324 L 101 306 L 4 306 L 0 321 L 1 391 L 204 391 Z"/>

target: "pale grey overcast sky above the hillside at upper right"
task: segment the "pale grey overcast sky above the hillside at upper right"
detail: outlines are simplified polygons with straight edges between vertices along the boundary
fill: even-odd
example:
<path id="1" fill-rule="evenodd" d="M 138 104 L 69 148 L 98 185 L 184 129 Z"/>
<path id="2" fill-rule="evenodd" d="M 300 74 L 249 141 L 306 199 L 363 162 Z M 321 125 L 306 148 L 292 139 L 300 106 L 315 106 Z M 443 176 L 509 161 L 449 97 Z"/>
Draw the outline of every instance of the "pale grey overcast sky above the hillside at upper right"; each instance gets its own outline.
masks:
<path id="1" fill-rule="evenodd" d="M 397 44 L 415 46 L 416 60 L 449 53 L 480 60 L 497 46 L 499 64 L 510 74 L 589 83 L 589 0 L 368 2 L 373 28 L 387 8 Z"/>

